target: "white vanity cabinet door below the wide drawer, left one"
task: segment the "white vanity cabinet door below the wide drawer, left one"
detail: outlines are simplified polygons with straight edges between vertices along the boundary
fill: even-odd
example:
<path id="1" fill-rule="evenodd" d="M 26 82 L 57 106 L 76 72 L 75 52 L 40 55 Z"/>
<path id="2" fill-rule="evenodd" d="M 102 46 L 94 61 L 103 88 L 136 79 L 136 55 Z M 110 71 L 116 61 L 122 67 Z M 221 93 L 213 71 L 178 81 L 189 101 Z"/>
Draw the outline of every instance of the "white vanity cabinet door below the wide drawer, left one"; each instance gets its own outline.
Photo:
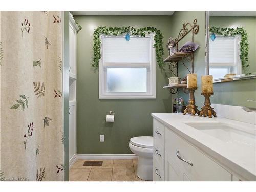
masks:
<path id="1" fill-rule="evenodd" d="M 184 181 L 184 173 L 177 163 L 165 151 L 164 178 L 165 181 Z"/>

